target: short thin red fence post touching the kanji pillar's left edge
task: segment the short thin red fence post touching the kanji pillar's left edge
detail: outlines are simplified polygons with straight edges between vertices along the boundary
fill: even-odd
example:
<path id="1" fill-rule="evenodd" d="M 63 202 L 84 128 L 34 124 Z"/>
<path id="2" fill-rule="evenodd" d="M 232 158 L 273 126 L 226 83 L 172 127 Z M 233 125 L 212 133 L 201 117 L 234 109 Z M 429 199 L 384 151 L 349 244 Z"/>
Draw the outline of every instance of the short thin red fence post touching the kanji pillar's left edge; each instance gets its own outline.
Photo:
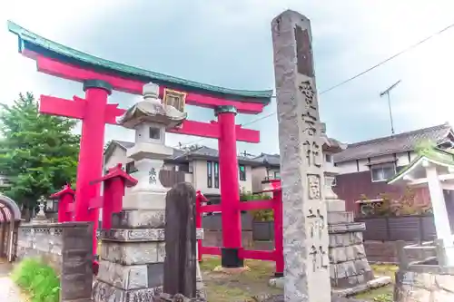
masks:
<path id="1" fill-rule="evenodd" d="M 274 250 L 276 260 L 275 277 L 283 277 L 283 234 L 282 234 L 282 190 L 276 189 L 272 192 L 274 200 Z"/>

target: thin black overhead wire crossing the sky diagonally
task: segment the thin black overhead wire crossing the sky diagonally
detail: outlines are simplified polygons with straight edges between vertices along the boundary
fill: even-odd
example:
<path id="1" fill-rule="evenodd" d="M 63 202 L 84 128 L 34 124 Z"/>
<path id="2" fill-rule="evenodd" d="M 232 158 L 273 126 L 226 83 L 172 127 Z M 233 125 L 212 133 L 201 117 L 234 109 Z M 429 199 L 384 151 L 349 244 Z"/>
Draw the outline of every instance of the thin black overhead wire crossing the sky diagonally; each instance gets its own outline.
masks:
<path id="1" fill-rule="evenodd" d="M 370 68 L 364 70 L 363 72 L 358 73 L 358 74 L 355 74 L 355 75 L 351 76 L 350 78 L 348 78 L 348 79 L 342 81 L 341 83 L 337 83 L 337 84 L 331 86 L 330 88 L 328 88 L 328 89 L 322 91 L 322 92 L 319 93 L 319 94 L 329 93 L 329 92 L 331 92 L 332 90 L 334 90 L 334 89 L 336 89 L 336 88 L 338 88 L 338 87 L 341 87 L 342 85 L 344 85 L 344 84 L 346 84 L 346 83 L 349 83 L 349 82 L 351 82 L 351 81 L 353 81 L 353 80 L 359 78 L 360 76 L 362 76 L 362 75 L 364 75 L 364 74 L 366 74 L 366 73 L 370 73 L 372 70 L 374 70 L 374 69 L 380 67 L 381 65 L 383 65 L 383 64 L 385 64 L 385 63 L 388 63 L 388 62 L 390 62 L 391 60 L 397 58 L 398 56 L 400 56 L 400 54 L 405 54 L 405 53 L 409 52 L 409 51 L 412 50 L 413 48 L 416 48 L 416 47 L 418 47 L 420 44 L 424 44 L 424 43 L 428 42 L 428 41 L 429 41 L 430 39 L 432 39 L 433 37 L 435 37 L 435 36 L 437 36 L 437 35 L 439 35 L 439 34 L 442 34 L 442 33 L 446 32 L 447 30 L 449 30 L 449 29 L 452 28 L 452 27 L 454 27 L 454 24 L 449 24 L 449 25 L 446 26 L 445 28 L 439 30 L 438 32 L 436 32 L 436 33 L 434 33 L 434 34 L 430 34 L 428 37 L 426 37 L 426 38 L 420 40 L 419 42 L 417 42 L 417 43 L 415 43 L 415 44 L 411 44 L 409 47 L 407 47 L 407 48 L 401 50 L 399 53 L 391 55 L 389 58 L 387 58 L 387 59 L 381 61 L 380 63 L 376 63 L 375 65 L 373 65 L 373 66 L 371 66 Z M 275 99 L 275 98 L 276 98 L 276 95 L 272 95 L 271 98 L 274 98 L 274 99 Z M 250 124 L 255 123 L 255 122 L 262 121 L 262 120 L 264 120 L 264 119 L 267 119 L 267 118 L 271 117 L 272 115 L 274 115 L 274 114 L 276 114 L 276 113 L 277 113 L 277 112 L 271 112 L 271 113 L 269 113 L 269 114 L 267 114 L 267 115 L 261 116 L 261 117 L 255 119 L 255 120 L 250 121 L 250 122 L 242 123 L 242 126 L 246 126 L 246 125 L 250 125 Z M 203 141 L 203 140 L 206 140 L 206 139 L 207 139 L 207 138 L 202 138 L 202 139 L 199 139 L 199 140 L 197 140 L 197 141 L 192 141 L 192 142 L 189 142 L 189 143 L 185 143 L 185 144 L 183 144 L 183 145 L 184 145 L 184 146 L 191 145 L 191 144 L 193 144 L 193 143 L 196 143 L 196 142 L 199 142 L 199 141 Z"/>

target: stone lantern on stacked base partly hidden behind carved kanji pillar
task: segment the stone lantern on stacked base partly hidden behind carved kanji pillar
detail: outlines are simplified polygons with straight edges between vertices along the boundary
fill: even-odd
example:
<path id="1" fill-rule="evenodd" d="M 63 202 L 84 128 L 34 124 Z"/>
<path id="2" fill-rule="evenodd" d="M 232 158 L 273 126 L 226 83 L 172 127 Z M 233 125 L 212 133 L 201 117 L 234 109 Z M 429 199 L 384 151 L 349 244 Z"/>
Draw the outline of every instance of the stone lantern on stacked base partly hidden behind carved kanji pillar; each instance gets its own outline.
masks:
<path id="1" fill-rule="evenodd" d="M 344 150 L 347 146 L 340 141 L 325 139 L 323 154 L 332 155 Z M 345 211 L 345 201 L 339 200 L 332 190 L 333 181 L 338 174 L 333 161 L 325 164 L 325 200 L 328 208 L 328 232 L 330 233 L 330 270 L 331 287 L 343 288 L 342 291 L 357 292 L 362 285 L 374 278 L 362 244 L 363 222 L 355 222 L 353 212 Z M 358 287 L 359 288 L 355 288 Z M 337 289 L 333 288 L 333 291 Z"/>

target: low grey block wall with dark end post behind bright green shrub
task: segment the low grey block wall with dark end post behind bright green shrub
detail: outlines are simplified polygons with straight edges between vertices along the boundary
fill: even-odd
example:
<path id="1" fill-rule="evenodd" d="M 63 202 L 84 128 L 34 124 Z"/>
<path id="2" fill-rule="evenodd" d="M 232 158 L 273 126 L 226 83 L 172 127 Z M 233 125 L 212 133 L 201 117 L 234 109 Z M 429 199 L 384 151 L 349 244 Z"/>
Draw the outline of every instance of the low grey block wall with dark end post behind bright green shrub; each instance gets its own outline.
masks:
<path id="1" fill-rule="evenodd" d="M 19 227 L 17 260 L 41 258 L 60 275 L 60 301 L 90 302 L 93 240 L 89 223 L 25 224 Z"/>

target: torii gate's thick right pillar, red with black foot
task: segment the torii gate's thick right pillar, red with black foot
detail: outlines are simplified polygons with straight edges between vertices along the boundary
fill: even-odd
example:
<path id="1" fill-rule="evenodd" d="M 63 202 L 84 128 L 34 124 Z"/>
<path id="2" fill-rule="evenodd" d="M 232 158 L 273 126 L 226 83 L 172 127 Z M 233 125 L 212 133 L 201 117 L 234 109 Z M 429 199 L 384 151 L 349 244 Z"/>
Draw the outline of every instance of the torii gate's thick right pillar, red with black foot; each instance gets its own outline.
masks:
<path id="1" fill-rule="evenodd" d="M 242 220 L 234 106 L 219 106 L 215 110 L 219 122 L 219 172 L 222 208 L 222 267 L 242 268 Z"/>

